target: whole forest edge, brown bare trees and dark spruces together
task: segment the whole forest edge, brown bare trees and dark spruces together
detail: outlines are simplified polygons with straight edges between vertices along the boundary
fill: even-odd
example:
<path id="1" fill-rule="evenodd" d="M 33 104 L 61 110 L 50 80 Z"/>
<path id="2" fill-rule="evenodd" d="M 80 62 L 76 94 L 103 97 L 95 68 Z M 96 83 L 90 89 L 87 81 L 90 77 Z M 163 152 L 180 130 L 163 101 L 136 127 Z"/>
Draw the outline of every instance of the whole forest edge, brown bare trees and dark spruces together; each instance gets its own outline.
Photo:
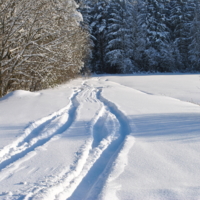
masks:
<path id="1" fill-rule="evenodd" d="M 1 0 L 0 13 L 0 97 L 90 71 L 200 71 L 198 0 Z"/>

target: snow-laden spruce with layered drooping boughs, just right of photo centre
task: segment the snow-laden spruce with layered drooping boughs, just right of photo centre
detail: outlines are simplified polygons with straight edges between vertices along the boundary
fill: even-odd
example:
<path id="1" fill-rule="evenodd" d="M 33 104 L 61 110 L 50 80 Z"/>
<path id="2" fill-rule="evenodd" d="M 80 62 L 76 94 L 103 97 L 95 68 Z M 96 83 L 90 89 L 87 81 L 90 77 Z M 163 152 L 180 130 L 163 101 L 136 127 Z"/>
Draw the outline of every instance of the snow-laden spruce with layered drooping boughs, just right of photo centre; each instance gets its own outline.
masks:
<path id="1" fill-rule="evenodd" d="M 131 71 L 132 62 L 129 55 L 131 35 L 127 23 L 125 1 L 111 1 L 108 18 L 108 32 L 106 46 L 107 72 L 127 73 Z"/>

